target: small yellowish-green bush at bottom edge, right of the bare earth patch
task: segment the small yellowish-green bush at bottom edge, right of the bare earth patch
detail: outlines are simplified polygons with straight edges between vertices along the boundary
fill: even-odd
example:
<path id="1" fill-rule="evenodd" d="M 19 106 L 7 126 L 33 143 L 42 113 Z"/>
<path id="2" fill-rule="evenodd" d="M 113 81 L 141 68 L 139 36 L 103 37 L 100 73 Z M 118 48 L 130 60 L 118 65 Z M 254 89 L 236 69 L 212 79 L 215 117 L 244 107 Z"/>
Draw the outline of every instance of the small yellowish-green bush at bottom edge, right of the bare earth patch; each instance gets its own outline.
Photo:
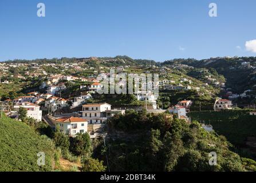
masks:
<path id="1" fill-rule="evenodd" d="M 105 172 L 106 166 L 103 165 L 103 161 L 93 158 L 85 158 L 82 165 L 82 172 Z"/>

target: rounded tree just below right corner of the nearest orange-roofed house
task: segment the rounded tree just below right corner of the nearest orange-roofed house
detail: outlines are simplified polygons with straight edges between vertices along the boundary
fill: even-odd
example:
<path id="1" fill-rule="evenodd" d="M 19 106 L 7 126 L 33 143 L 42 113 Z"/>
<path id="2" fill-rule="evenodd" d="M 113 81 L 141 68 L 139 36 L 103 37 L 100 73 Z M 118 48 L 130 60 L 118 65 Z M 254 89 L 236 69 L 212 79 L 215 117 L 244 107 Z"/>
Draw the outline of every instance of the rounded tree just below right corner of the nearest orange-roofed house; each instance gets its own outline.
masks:
<path id="1" fill-rule="evenodd" d="M 78 156 L 89 157 L 92 154 L 92 144 L 88 133 L 79 133 L 74 137 L 73 152 Z"/>

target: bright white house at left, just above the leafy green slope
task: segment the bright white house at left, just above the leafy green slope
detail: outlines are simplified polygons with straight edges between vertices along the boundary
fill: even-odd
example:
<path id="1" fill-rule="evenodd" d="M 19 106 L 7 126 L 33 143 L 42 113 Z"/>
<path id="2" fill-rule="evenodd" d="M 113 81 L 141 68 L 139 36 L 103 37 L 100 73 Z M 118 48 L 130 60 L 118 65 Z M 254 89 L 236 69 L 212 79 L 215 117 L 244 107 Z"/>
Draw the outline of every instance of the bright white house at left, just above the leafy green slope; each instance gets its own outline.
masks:
<path id="1" fill-rule="evenodd" d="M 27 110 L 27 117 L 36 119 L 37 121 L 42 121 L 42 110 L 40 106 L 32 104 L 30 102 L 22 102 L 14 105 L 14 111 L 18 112 L 19 108 L 25 108 Z"/>

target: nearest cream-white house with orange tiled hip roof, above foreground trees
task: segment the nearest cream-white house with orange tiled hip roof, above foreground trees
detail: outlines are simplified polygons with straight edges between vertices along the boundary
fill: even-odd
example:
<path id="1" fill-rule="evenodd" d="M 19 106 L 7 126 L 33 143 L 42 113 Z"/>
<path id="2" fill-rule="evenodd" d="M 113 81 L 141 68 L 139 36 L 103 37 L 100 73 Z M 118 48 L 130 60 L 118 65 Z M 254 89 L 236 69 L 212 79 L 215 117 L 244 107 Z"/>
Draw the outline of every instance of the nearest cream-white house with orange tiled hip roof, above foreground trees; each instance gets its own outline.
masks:
<path id="1" fill-rule="evenodd" d="M 62 117 L 56 120 L 57 125 L 62 133 L 76 136 L 77 133 L 87 132 L 88 121 L 78 117 Z"/>

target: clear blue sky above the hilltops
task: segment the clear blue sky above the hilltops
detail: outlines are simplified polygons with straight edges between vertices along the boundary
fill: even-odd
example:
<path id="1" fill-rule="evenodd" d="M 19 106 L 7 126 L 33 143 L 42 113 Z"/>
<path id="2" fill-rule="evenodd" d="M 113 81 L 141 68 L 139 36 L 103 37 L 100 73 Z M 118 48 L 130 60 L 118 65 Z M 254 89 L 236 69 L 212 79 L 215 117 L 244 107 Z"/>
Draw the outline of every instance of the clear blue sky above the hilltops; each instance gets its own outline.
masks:
<path id="1" fill-rule="evenodd" d="M 46 17 L 37 17 L 40 2 Z M 218 17 L 208 16 L 211 2 Z M 0 61 L 256 56 L 245 47 L 256 39 L 255 8 L 255 0 L 1 0 Z"/>

